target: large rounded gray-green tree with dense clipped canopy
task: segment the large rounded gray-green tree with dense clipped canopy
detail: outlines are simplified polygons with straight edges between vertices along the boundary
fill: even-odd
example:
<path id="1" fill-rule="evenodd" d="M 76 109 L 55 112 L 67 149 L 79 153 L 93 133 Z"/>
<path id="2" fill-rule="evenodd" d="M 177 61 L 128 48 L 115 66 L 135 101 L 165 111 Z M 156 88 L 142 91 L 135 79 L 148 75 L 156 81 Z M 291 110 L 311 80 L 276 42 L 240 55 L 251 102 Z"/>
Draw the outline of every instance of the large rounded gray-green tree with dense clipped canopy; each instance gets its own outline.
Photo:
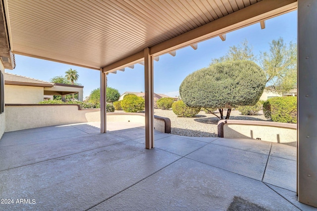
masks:
<path id="1" fill-rule="evenodd" d="M 187 106 L 228 109 L 255 105 L 264 90 L 264 71 L 252 61 L 226 61 L 188 75 L 179 87 Z M 221 118 L 220 118 L 221 119 Z"/>

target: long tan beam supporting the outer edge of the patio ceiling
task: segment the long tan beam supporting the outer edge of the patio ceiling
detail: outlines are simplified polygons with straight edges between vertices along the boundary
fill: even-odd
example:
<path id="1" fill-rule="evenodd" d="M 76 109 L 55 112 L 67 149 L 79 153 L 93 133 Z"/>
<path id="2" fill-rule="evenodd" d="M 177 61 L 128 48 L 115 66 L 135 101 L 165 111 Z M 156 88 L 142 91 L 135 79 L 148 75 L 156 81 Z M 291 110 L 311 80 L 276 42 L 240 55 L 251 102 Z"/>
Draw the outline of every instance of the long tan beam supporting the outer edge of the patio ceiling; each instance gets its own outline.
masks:
<path id="1" fill-rule="evenodd" d="M 175 51 L 182 47 L 232 32 L 268 18 L 273 18 L 275 16 L 294 11 L 296 8 L 297 0 L 262 0 L 168 41 L 159 43 L 150 48 L 150 55 L 156 57 Z M 143 60 L 144 52 L 141 51 L 103 67 L 103 71 L 111 72 L 139 63 Z"/>

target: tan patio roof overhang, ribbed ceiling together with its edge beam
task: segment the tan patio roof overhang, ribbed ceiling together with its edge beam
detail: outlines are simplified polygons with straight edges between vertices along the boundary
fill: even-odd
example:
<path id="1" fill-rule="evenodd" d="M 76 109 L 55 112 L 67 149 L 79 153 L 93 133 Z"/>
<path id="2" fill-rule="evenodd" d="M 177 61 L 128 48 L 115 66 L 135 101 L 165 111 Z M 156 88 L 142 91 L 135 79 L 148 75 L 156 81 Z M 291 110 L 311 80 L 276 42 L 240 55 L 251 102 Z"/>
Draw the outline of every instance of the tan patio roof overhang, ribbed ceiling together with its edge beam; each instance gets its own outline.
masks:
<path id="1" fill-rule="evenodd" d="M 12 53 L 104 72 L 144 60 L 146 47 L 157 56 L 297 8 L 297 0 L 3 2 Z"/>

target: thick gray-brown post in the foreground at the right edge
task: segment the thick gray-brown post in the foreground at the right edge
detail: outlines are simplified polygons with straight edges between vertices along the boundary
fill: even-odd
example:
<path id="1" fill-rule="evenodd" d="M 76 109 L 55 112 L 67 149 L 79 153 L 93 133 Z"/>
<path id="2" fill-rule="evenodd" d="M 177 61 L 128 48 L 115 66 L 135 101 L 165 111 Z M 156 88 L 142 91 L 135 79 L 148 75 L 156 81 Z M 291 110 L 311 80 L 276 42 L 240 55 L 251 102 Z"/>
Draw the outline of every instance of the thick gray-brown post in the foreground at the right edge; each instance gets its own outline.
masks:
<path id="1" fill-rule="evenodd" d="M 297 193 L 317 207 L 317 0 L 298 0 Z"/>

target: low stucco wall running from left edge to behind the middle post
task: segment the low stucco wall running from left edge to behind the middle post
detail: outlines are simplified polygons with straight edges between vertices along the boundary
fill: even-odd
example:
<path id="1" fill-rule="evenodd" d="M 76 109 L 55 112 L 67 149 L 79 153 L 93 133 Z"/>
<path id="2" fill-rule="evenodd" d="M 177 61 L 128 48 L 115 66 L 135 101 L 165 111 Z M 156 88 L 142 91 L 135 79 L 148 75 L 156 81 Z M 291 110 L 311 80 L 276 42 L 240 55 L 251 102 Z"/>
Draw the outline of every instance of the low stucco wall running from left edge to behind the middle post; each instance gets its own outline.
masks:
<path id="1" fill-rule="evenodd" d="M 100 122 L 100 109 L 80 109 L 79 105 L 6 104 L 5 118 L 5 132 L 9 132 L 53 125 Z M 106 120 L 145 124 L 145 115 L 107 113 Z M 155 116 L 154 127 L 161 132 L 170 133 L 170 120 Z"/>

